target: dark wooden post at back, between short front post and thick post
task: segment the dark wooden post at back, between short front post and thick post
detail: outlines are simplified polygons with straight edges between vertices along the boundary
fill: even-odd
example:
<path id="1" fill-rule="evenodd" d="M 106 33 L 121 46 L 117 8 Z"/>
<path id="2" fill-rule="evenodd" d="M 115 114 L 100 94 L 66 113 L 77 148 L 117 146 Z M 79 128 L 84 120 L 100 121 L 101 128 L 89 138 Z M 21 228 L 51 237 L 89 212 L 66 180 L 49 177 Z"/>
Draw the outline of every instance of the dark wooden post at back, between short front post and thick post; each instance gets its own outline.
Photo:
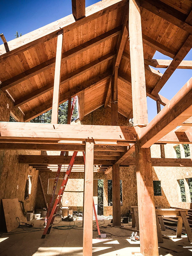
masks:
<path id="1" fill-rule="evenodd" d="M 121 226 L 120 174 L 119 165 L 112 166 L 113 226 Z"/>

